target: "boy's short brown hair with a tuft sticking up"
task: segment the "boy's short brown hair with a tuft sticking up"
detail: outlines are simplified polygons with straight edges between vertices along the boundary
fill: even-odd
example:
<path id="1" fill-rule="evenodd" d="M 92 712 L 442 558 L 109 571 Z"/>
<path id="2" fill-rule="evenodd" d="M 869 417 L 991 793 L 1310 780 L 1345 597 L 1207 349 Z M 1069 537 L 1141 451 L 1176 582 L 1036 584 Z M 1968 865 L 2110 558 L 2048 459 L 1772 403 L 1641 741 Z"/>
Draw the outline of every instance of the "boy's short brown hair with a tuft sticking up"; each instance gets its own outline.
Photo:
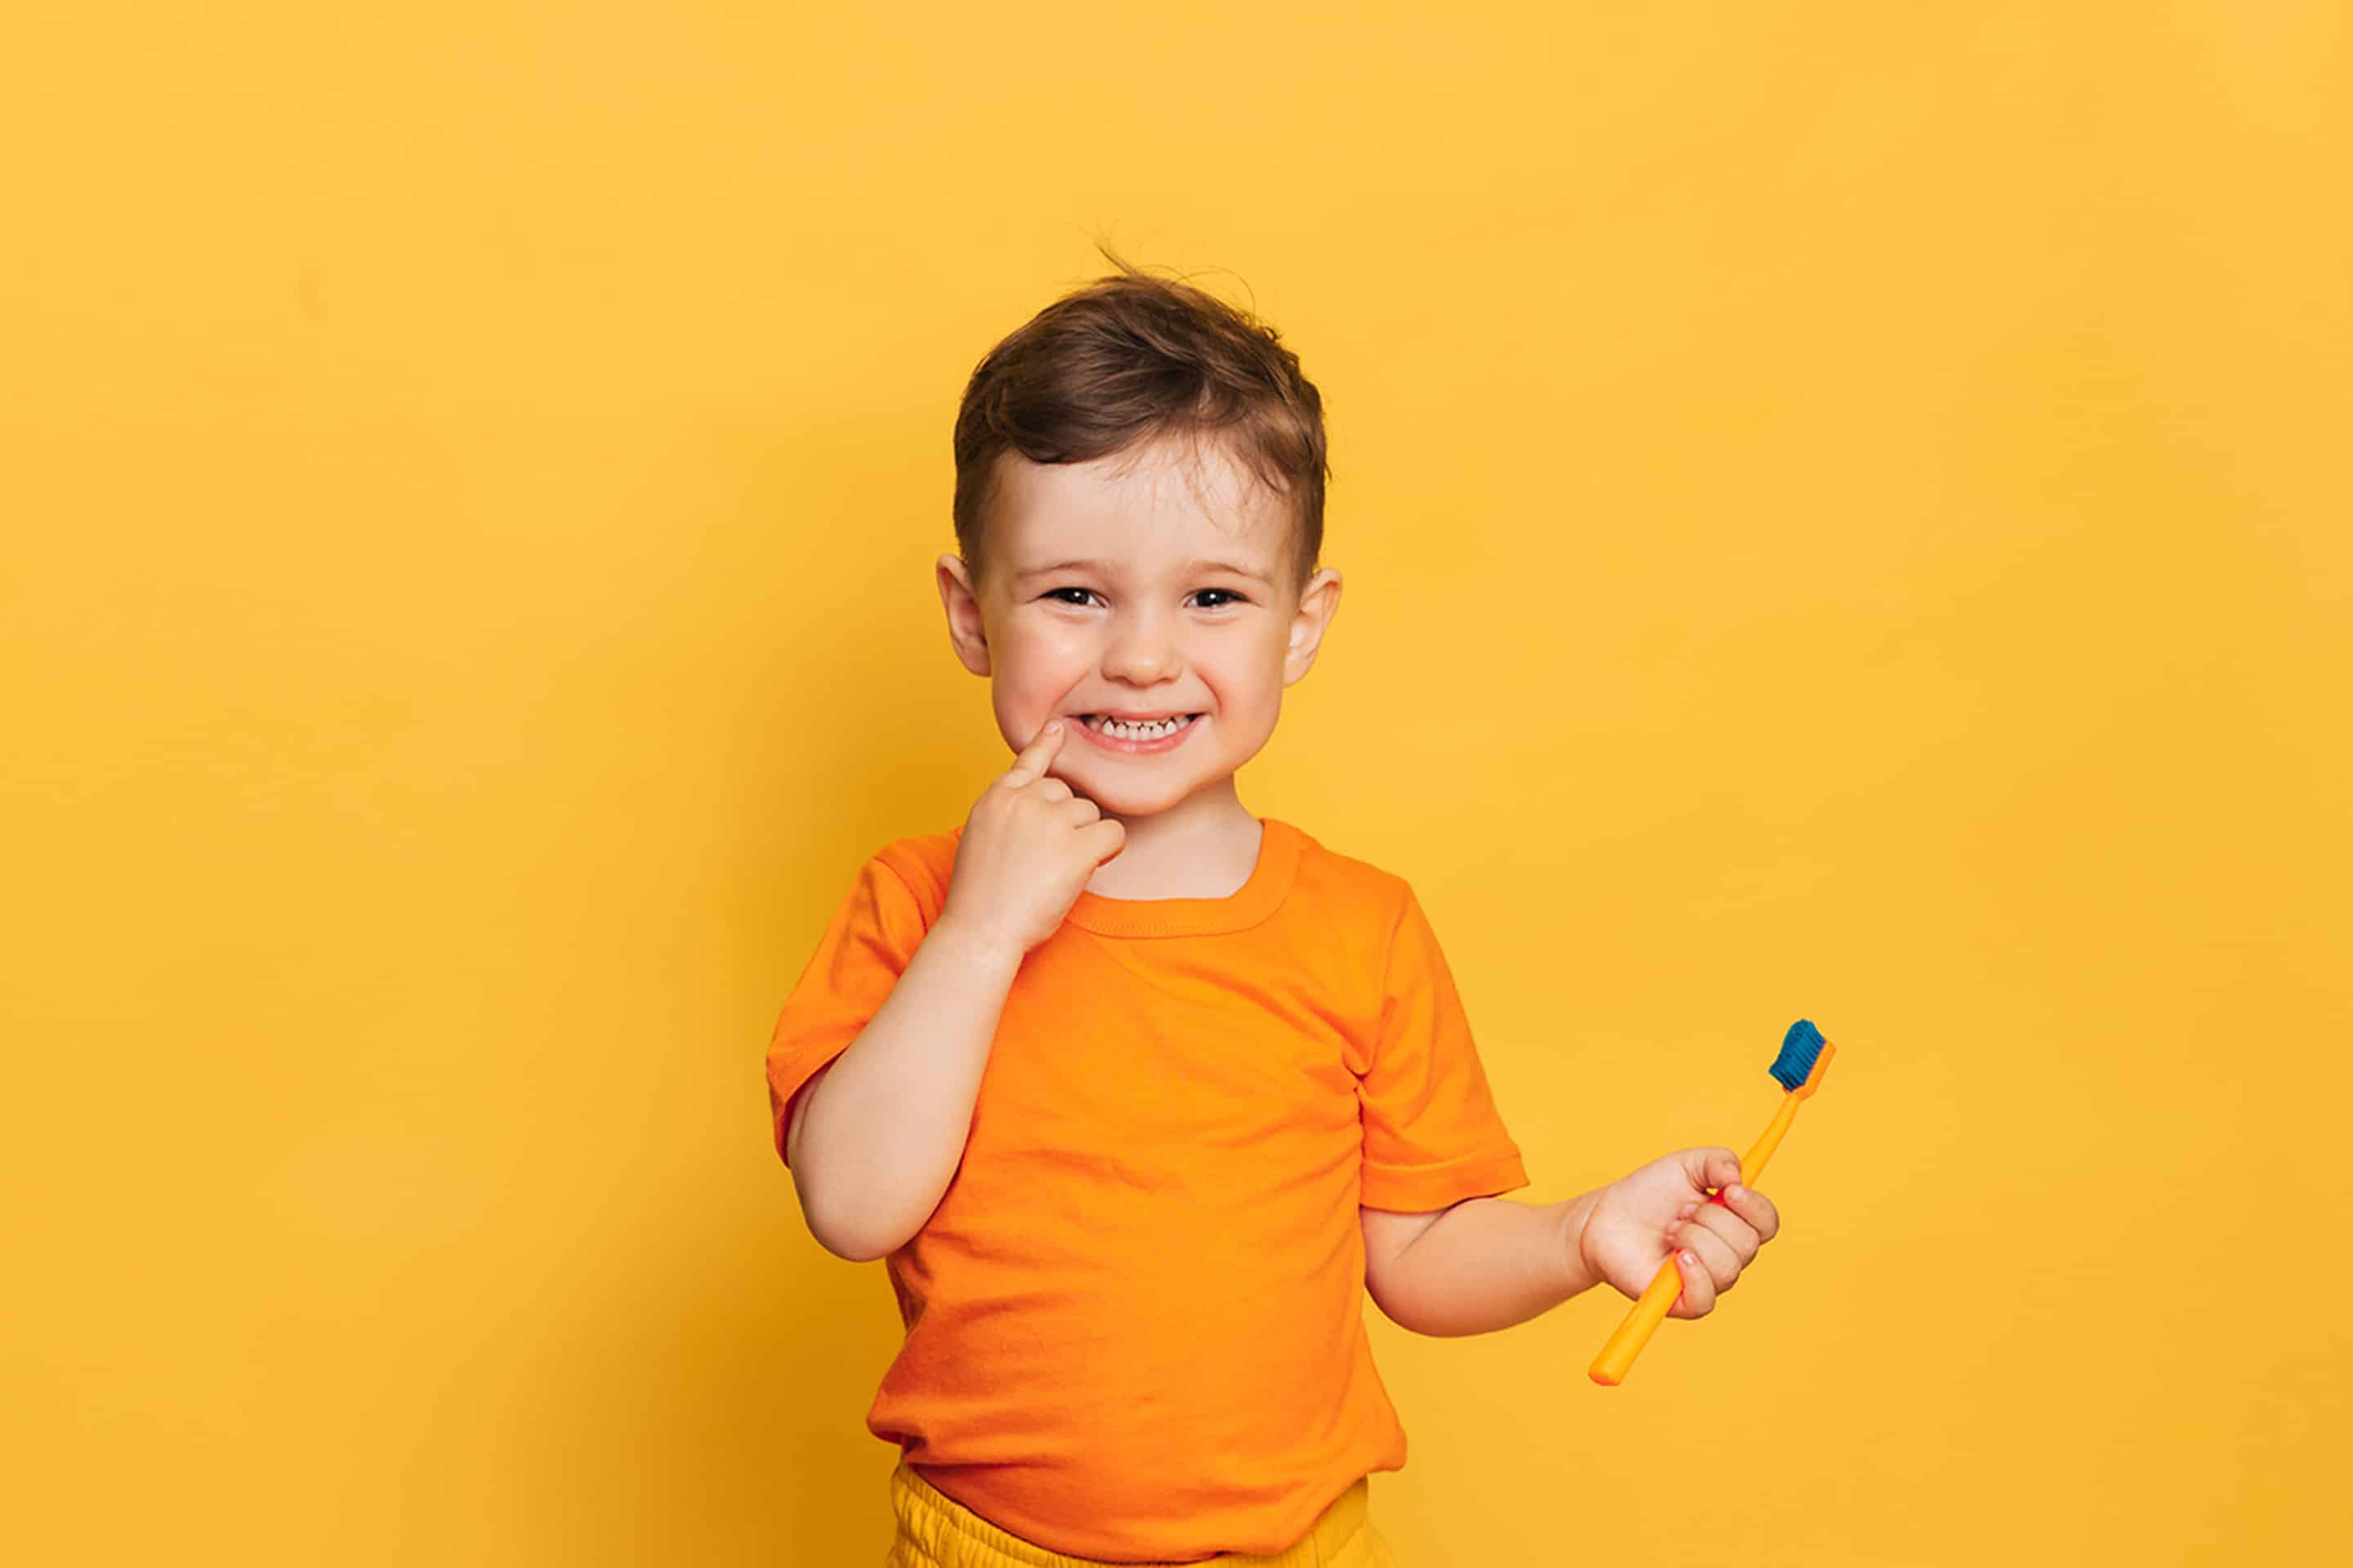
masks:
<path id="1" fill-rule="evenodd" d="M 1329 483 L 1322 393 L 1254 313 L 1153 278 L 1096 240 L 1118 273 L 1073 290 L 991 348 L 955 410 L 955 546 L 979 589 L 998 459 L 1082 464 L 1160 438 L 1224 440 L 1289 499 L 1292 593 L 1322 553 Z"/>

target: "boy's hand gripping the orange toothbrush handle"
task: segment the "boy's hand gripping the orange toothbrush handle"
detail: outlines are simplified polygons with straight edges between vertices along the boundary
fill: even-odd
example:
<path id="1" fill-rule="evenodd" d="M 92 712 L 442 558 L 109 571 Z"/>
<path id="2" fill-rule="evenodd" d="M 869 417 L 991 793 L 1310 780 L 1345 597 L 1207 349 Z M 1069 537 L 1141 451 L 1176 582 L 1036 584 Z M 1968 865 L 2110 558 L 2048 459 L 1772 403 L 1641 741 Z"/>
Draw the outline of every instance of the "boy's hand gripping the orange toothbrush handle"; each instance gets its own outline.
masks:
<path id="1" fill-rule="evenodd" d="M 1657 1158 L 1595 1194 L 1577 1255 L 1593 1278 L 1626 1297 L 1640 1297 L 1659 1264 L 1673 1257 L 1682 1295 L 1666 1316 L 1704 1318 L 1781 1229 L 1781 1210 L 1739 1180 L 1741 1156 L 1732 1149 L 1678 1149 Z M 1722 1189 L 1722 1203 L 1708 1198 L 1711 1187 Z"/>

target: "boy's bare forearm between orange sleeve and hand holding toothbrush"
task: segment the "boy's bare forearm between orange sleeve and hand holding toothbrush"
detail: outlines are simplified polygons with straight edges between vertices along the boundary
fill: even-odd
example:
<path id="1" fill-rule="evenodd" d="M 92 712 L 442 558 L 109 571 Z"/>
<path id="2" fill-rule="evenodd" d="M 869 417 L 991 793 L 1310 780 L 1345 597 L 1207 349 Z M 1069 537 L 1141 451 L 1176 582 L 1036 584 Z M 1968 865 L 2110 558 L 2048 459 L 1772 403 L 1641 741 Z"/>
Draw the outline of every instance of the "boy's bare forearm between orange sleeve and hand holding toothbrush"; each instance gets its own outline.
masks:
<path id="1" fill-rule="evenodd" d="M 1464 1198 L 1421 1215 L 1360 1205 L 1365 1290 L 1419 1335 L 1525 1323 L 1598 1283 L 1577 1250 L 1595 1198 L 1600 1189 L 1560 1203 Z"/>

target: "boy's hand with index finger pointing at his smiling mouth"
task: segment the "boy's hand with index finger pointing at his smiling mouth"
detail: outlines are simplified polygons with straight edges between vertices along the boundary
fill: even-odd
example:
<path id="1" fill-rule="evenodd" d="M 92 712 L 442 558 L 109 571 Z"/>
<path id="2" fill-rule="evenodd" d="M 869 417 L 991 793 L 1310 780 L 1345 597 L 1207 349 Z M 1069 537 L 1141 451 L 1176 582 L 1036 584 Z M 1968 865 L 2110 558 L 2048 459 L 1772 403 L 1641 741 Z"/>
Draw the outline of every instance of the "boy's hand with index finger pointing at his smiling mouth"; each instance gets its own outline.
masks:
<path id="1" fill-rule="evenodd" d="M 1026 954 L 1061 930 L 1094 869 L 1120 852 L 1127 826 L 1045 772 L 1068 723 L 1049 720 L 974 803 L 941 925 Z"/>

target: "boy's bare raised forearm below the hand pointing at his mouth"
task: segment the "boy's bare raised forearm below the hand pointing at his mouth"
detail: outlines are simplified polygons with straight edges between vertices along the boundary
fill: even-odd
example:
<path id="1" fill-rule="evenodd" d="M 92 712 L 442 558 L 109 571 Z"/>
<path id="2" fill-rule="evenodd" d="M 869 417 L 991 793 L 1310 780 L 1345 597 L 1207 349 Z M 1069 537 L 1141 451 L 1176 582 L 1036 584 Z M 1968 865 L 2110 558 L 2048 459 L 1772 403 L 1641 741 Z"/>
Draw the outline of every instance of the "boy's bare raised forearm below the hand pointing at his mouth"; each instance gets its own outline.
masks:
<path id="1" fill-rule="evenodd" d="M 939 1208 L 1021 958 L 934 925 L 859 1036 L 793 1097 L 786 1163 L 809 1234 L 835 1257 L 885 1257 Z"/>

